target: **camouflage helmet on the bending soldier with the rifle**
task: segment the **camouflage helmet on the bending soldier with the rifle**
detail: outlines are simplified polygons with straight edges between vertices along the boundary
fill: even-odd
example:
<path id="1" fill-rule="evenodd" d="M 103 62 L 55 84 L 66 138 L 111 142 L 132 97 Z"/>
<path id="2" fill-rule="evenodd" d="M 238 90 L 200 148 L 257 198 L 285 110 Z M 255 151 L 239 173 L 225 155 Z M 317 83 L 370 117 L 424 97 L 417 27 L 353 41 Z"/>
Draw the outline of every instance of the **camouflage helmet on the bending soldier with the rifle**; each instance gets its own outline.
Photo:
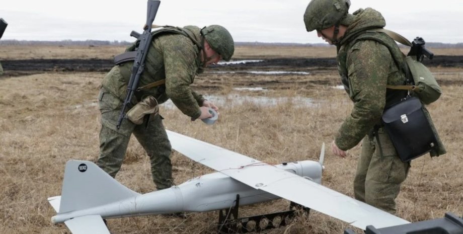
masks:
<path id="1" fill-rule="evenodd" d="M 228 30 L 220 25 L 210 25 L 201 29 L 201 34 L 210 47 L 222 56 L 223 60 L 231 59 L 231 55 L 235 52 L 235 43 Z"/>

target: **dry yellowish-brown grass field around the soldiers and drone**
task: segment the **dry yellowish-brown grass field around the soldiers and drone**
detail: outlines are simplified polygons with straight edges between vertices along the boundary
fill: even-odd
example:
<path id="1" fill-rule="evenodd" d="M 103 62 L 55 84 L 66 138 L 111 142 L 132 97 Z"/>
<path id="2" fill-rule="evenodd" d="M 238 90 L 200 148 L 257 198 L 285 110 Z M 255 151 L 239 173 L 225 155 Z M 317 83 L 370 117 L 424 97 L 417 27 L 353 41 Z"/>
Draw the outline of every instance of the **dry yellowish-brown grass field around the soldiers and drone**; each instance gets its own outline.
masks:
<path id="1" fill-rule="evenodd" d="M 110 58 L 115 47 L 2 47 L 2 59 Z M 458 50 L 436 54 L 463 55 Z M 334 57 L 335 48 L 239 47 L 237 58 Z M 448 153 L 412 162 L 403 184 L 398 216 L 410 221 L 463 214 L 463 67 L 432 68 L 444 94 L 428 106 Z M 53 225 L 55 211 L 47 198 L 61 193 L 64 165 L 68 160 L 95 161 L 99 153 L 99 110 L 96 98 L 104 73 L 46 72 L 0 77 L 0 233 L 70 233 L 63 224 Z M 249 82 L 249 81 L 253 81 Z M 280 83 L 278 83 L 280 82 Z M 262 87 L 264 91 L 239 91 L 237 86 Z M 253 85 L 254 84 L 254 85 Z M 257 85 L 256 85 L 257 84 Z M 278 84 L 281 84 L 279 86 Z M 330 146 L 352 104 L 339 85 L 336 68 L 311 74 L 250 75 L 206 72 L 194 88 L 220 98 L 220 118 L 212 126 L 190 121 L 178 109 L 163 106 L 167 129 L 240 152 L 269 164 L 318 160 L 323 142 Z M 240 99 L 245 97 L 245 100 Z M 254 102 L 282 97 L 275 103 Z M 260 98 L 260 99 L 258 99 Z M 296 100 L 310 98 L 314 105 Z M 241 100 L 241 102 L 238 102 Z M 263 99 L 265 100 L 265 99 Z M 281 101 L 284 100 L 284 101 Z M 352 180 L 360 146 L 341 159 L 326 150 L 323 184 L 353 196 Z M 183 155 L 172 154 L 175 183 L 213 172 Z M 128 188 L 146 193 L 155 190 L 148 157 L 132 139 L 116 179 Z M 241 208 L 241 216 L 287 209 L 277 200 Z M 216 233 L 218 212 L 188 213 L 186 219 L 161 215 L 109 219 L 113 234 Z M 342 233 L 347 223 L 311 211 L 298 212 L 285 227 L 265 233 Z M 357 230 L 358 231 L 358 230 Z"/>

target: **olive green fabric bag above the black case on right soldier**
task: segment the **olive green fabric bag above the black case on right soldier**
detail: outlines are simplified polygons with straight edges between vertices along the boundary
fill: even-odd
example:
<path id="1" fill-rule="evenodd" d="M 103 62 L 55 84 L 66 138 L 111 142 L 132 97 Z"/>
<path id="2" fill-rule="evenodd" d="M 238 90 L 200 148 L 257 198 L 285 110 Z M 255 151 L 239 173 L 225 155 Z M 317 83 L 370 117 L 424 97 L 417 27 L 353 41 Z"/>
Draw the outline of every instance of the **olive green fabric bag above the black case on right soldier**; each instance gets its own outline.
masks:
<path id="1" fill-rule="evenodd" d="M 442 90 L 431 71 L 423 63 L 415 60 L 414 56 L 407 56 L 405 62 L 415 83 L 413 93 L 426 105 L 439 99 Z"/>

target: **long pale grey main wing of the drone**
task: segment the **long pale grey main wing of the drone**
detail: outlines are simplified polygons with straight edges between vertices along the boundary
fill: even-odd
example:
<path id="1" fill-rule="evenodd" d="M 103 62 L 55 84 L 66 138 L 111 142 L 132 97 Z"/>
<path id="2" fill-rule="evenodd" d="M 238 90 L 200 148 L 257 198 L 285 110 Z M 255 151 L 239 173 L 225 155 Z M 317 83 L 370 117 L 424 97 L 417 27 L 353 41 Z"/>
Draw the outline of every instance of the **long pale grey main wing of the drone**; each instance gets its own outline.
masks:
<path id="1" fill-rule="evenodd" d="M 338 218 L 365 229 L 409 223 L 306 178 L 287 173 L 246 155 L 220 148 L 176 132 L 167 131 L 172 148 L 188 158 L 255 189 Z"/>

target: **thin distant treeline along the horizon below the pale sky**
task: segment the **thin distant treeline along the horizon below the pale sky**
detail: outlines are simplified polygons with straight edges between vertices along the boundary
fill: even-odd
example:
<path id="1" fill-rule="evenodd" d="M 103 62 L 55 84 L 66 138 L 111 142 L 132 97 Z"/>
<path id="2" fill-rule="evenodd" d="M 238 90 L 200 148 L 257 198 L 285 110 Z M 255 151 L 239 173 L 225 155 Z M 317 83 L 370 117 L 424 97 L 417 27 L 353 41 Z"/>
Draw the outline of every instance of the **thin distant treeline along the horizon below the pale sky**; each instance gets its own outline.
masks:
<path id="1" fill-rule="evenodd" d="M 51 46 L 65 46 L 65 45 L 86 45 L 86 46 L 102 46 L 102 45 L 115 45 L 126 46 L 132 42 L 127 41 L 98 41 L 98 40 L 85 40 L 85 41 L 24 41 L 24 40 L 2 40 L 0 45 L 51 45 Z M 235 42 L 237 46 L 330 46 L 328 43 L 280 43 L 280 42 Z M 402 45 L 401 45 L 402 46 Z M 427 42 L 426 47 L 429 48 L 463 48 L 463 43 L 440 43 L 440 42 Z"/>

